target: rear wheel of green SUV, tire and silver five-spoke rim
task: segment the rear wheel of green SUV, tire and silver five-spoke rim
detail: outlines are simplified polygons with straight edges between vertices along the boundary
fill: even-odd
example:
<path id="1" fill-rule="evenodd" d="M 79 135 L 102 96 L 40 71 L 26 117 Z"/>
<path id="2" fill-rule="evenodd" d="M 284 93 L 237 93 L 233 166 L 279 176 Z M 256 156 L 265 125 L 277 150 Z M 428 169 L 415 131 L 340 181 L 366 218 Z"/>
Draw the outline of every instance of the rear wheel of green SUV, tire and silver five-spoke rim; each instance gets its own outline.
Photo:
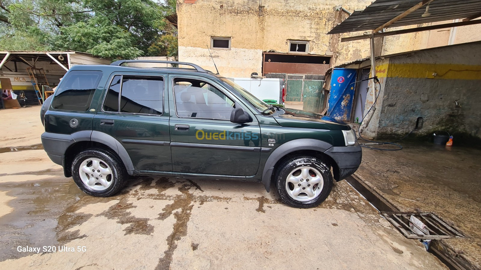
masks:
<path id="1" fill-rule="evenodd" d="M 86 194 L 108 197 L 124 187 L 128 174 L 124 163 L 114 151 L 89 148 L 78 153 L 73 160 L 72 178 Z"/>

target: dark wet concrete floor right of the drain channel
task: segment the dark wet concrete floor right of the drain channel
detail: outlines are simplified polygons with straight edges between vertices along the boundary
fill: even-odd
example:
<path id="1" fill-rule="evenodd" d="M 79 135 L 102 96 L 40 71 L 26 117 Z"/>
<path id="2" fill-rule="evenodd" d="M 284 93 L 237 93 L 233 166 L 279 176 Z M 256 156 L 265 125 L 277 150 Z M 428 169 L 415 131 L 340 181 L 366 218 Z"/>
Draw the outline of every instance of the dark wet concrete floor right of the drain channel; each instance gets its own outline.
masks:
<path id="1" fill-rule="evenodd" d="M 449 252 L 481 269 L 481 150 L 401 143 L 400 151 L 363 149 L 355 175 L 401 211 L 434 212 L 467 238 Z"/>

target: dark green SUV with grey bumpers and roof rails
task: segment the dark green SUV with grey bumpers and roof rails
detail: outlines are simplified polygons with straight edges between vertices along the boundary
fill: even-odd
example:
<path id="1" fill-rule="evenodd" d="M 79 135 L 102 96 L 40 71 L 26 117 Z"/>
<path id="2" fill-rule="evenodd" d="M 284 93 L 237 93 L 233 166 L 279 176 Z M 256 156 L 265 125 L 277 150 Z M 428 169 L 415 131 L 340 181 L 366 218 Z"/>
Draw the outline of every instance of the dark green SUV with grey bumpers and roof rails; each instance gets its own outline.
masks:
<path id="1" fill-rule="evenodd" d="M 164 175 L 273 183 L 284 203 L 310 208 L 361 163 L 348 125 L 273 107 L 192 63 L 76 65 L 52 97 L 43 147 L 91 196 L 116 194 L 131 175 Z"/>

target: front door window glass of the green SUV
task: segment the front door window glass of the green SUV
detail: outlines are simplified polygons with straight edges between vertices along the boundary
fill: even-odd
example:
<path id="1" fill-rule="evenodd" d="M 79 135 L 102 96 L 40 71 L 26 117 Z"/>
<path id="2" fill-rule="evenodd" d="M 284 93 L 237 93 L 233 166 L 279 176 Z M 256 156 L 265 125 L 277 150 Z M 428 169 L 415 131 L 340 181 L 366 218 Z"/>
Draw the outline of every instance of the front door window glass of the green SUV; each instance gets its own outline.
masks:
<path id="1" fill-rule="evenodd" d="M 229 120 L 234 109 L 234 101 L 199 80 L 175 79 L 174 96 L 179 117 Z"/>

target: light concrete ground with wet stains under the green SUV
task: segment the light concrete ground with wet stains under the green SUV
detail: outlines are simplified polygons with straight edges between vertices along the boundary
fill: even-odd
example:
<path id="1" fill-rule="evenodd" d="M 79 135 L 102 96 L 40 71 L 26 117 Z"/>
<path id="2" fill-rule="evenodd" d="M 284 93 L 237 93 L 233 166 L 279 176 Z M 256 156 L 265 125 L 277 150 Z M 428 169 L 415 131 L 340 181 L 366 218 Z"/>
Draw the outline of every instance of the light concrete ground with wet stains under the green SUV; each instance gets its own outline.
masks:
<path id="1" fill-rule="evenodd" d="M 0 137 L 0 269 L 445 269 L 345 181 L 314 209 L 259 183 L 165 177 L 86 196 L 37 146 L 39 107 L 19 110 L 31 115 L 12 135 L 31 144 Z"/>

